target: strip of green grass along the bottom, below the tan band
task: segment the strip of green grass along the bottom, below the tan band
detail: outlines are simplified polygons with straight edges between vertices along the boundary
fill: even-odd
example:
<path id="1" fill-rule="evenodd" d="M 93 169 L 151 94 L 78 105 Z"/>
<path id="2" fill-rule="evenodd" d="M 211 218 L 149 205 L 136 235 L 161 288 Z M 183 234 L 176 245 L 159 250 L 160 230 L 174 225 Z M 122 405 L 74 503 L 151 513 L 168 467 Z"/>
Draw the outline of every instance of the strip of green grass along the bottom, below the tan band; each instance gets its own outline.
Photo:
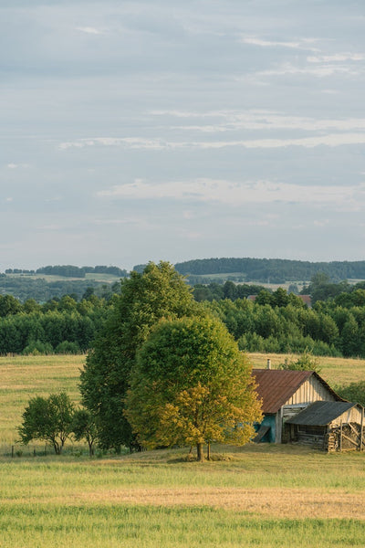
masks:
<path id="1" fill-rule="evenodd" d="M 206 507 L 12 506 L 0 511 L 2 548 L 332 548 L 363 546 L 365 522 L 266 519 Z"/>

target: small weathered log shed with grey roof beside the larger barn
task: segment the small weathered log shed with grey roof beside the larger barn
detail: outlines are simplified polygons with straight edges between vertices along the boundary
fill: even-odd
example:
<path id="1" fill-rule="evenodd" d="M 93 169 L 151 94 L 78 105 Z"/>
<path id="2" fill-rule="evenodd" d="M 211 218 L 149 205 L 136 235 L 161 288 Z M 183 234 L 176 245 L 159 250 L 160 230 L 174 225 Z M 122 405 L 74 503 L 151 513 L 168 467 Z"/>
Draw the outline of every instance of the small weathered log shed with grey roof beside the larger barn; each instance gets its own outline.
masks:
<path id="1" fill-rule="evenodd" d="M 364 441 L 364 408 L 349 402 L 318 401 L 285 424 L 289 441 L 325 451 L 362 450 Z"/>

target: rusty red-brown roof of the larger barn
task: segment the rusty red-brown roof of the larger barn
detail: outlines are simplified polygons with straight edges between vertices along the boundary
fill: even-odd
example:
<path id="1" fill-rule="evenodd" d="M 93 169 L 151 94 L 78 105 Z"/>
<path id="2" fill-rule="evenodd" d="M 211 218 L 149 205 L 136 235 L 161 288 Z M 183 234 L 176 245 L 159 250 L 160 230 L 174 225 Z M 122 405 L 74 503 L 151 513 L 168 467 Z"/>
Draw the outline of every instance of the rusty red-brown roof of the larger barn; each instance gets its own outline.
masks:
<path id="1" fill-rule="evenodd" d="M 257 383 L 257 395 L 263 401 L 262 410 L 264 413 L 277 413 L 289 397 L 297 392 L 299 386 L 312 375 L 328 389 L 336 400 L 343 401 L 315 371 L 254 369 L 252 374 Z"/>

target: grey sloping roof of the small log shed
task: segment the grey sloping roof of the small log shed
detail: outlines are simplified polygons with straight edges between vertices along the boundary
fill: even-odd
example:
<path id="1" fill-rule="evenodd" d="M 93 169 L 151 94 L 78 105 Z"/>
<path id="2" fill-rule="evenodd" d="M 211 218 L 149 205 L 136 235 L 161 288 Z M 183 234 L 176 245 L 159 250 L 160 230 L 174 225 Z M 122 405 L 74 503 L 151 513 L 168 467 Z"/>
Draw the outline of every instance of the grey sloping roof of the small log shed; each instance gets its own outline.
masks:
<path id="1" fill-rule="evenodd" d="M 296 416 L 289 418 L 287 424 L 303 425 L 306 427 L 326 427 L 335 418 L 338 418 L 357 405 L 351 402 L 314 402 Z"/>

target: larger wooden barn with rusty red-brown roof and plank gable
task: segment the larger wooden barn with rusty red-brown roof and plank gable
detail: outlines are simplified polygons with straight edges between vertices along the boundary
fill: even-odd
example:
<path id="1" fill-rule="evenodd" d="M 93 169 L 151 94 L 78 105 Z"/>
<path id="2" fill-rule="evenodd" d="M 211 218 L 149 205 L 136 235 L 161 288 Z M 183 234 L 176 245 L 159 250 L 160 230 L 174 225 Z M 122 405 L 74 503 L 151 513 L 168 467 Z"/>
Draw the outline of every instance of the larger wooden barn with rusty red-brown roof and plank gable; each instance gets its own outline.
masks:
<path id="1" fill-rule="evenodd" d="M 314 371 L 254 369 L 252 374 L 264 414 L 255 441 L 286 442 L 283 425 L 289 418 L 317 401 L 343 402 Z"/>

